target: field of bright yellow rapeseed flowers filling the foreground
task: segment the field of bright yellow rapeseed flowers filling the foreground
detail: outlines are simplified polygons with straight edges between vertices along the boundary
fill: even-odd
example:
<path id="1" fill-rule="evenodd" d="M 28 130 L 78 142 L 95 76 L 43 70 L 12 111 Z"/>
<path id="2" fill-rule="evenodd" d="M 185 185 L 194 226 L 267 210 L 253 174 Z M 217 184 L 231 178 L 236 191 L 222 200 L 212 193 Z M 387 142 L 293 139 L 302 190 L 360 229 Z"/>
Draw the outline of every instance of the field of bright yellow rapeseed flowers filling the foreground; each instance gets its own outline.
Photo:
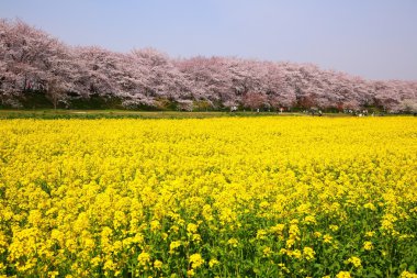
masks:
<path id="1" fill-rule="evenodd" d="M 416 277 L 417 119 L 0 121 L 0 277 Z"/>

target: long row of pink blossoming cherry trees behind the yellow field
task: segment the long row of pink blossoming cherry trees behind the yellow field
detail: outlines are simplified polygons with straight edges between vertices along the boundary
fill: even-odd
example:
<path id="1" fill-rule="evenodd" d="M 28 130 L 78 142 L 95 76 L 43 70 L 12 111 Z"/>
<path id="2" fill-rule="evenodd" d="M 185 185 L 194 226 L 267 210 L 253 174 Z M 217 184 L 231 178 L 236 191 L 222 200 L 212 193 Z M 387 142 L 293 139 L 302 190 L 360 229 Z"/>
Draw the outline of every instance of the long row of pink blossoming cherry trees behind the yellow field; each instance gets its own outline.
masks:
<path id="1" fill-rule="evenodd" d="M 373 81 L 311 64 L 234 57 L 174 59 L 155 49 L 68 46 L 22 21 L 0 21 L 0 105 L 42 94 L 128 109 L 416 109 L 417 81 Z M 27 105 L 27 104 L 26 104 Z"/>

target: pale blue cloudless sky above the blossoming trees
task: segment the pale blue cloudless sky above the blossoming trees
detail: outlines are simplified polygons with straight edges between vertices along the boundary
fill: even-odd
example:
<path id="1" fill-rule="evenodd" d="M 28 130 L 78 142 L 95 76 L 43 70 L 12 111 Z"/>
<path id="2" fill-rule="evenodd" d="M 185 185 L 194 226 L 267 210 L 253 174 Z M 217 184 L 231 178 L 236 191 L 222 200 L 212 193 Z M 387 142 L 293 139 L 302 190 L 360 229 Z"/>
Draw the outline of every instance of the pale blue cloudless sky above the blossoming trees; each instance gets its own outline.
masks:
<path id="1" fill-rule="evenodd" d="M 71 45 L 315 63 L 417 80 L 417 0 L 0 0 Z"/>

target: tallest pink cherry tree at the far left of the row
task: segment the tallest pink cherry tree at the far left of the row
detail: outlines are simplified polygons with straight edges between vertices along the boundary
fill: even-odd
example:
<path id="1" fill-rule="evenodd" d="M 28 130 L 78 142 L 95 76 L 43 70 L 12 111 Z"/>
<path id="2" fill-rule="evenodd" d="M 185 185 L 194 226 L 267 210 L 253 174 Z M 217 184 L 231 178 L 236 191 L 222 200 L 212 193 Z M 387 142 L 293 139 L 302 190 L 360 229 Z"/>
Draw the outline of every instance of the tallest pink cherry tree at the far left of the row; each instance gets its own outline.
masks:
<path id="1" fill-rule="evenodd" d="M 5 64 L 1 79 L 8 87 L 7 92 L 24 98 L 25 92 L 44 91 L 54 104 L 64 101 L 66 94 L 63 92 L 71 90 L 71 77 L 75 76 L 68 47 L 19 20 L 11 23 L 2 21 L 0 29 L 1 59 Z M 49 85 L 61 88 L 61 92 L 57 94 L 56 89 L 48 90 Z"/>

